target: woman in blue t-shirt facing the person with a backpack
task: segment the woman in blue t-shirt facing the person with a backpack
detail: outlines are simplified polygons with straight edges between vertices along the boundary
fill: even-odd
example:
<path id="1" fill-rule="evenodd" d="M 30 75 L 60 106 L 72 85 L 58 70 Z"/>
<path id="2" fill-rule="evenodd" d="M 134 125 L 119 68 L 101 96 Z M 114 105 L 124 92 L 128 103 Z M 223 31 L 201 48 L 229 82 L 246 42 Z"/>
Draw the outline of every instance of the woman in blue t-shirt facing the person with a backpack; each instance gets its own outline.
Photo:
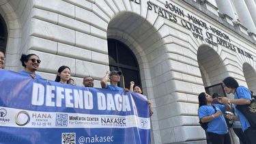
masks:
<path id="1" fill-rule="evenodd" d="M 212 96 L 205 92 L 199 94 L 198 100 L 198 116 L 202 123 L 208 123 L 206 132 L 212 144 L 231 144 L 227 124 L 223 116 L 223 113 L 226 109 L 229 110 L 230 106 L 228 104 L 213 104 L 214 106 L 212 106 Z"/>

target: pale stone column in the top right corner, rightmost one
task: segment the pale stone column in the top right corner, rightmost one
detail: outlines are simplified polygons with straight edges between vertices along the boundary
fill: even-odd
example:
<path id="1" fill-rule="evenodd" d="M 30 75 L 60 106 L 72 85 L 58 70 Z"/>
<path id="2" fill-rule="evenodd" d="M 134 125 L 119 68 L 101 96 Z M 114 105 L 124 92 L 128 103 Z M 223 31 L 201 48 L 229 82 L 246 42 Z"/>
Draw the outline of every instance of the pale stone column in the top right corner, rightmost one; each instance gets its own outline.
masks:
<path id="1" fill-rule="evenodd" d="M 248 11 L 248 8 L 244 0 L 231 1 L 233 2 L 233 5 L 235 6 L 236 11 L 238 12 L 238 16 L 242 25 L 244 25 L 248 29 L 248 32 L 256 33 L 256 27 L 253 23 L 253 18 L 251 18 L 251 14 Z"/>

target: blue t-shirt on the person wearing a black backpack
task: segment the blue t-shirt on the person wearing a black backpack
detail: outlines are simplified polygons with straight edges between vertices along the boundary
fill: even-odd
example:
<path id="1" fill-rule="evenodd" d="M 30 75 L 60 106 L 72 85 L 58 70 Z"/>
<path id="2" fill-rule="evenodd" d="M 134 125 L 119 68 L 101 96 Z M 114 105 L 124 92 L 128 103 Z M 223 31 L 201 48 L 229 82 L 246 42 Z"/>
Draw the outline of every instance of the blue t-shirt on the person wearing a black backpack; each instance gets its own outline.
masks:
<path id="1" fill-rule="evenodd" d="M 249 89 L 247 89 L 246 87 L 239 86 L 236 89 L 236 93 L 235 93 L 235 98 L 234 99 L 236 100 L 236 99 L 240 99 L 240 98 L 251 100 L 251 91 L 249 91 Z M 248 119 L 246 119 L 246 117 L 244 117 L 244 115 L 238 109 L 236 109 L 235 111 L 238 114 L 238 117 L 239 117 L 239 119 L 241 121 L 242 131 L 244 132 L 244 130 L 249 128 L 251 125 L 250 125 Z"/>

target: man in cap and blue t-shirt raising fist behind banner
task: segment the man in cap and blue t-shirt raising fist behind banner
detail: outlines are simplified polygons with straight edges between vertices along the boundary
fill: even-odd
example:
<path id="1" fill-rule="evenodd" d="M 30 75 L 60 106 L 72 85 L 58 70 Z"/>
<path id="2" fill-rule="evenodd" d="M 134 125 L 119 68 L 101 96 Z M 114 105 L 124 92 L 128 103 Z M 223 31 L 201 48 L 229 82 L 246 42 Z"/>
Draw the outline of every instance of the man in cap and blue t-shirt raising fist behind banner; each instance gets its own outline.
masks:
<path id="1" fill-rule="evenodd" d="M 122 87 L 118 87 L 117 83 L 120 81 L 120 76 L 122 75 L 122 72 L 113 70 L 112 72 L 107 71 L 106 75 L 102 78 L 100 81 L 100 85 L 103 89 L 111 89 L 111 90 L 117 90 L 117 91 L 126 91 L 126 89 L 123 89 Z M 109 85 L 108 78 L 111 80 L 111 85 Z M 129 91 L 129 90 L 128 90 Z"/>

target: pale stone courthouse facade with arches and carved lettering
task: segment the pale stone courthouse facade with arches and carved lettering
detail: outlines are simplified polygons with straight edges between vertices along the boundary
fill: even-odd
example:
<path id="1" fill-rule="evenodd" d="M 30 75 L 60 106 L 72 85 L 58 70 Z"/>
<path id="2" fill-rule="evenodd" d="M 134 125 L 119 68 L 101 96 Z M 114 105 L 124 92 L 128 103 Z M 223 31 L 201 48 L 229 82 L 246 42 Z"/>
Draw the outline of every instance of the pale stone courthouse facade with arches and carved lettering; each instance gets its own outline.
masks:
<path id="1" fill-rule="evenodd" d="M 77 85 L 121 70 L 152 101 L 152 143 L 205 143 L 201 91 L 233 76 L 256 92 L 255 0 L 0 0 L 5 69 L 37 54 L 54 80 L 69 66 Z"/>

